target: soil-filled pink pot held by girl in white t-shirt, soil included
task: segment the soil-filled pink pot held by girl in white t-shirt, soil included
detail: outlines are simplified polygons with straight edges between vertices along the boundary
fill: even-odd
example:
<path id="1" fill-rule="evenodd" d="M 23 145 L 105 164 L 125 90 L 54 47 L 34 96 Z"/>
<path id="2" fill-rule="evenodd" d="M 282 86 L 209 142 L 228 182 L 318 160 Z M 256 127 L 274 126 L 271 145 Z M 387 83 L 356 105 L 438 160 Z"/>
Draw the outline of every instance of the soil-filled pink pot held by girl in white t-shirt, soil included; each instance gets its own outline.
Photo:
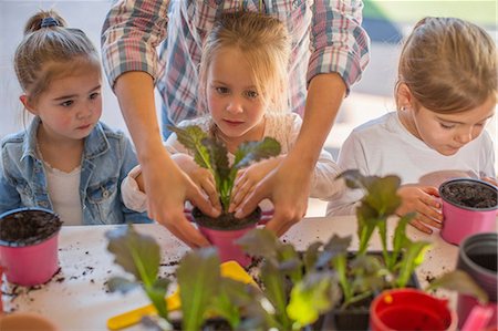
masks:
<path id="1" fill-rule="evenodd" d="M 498 189 L 489 183 L 457 178 L 439 186 L 443 200 L 443 239 L 459 245 L 467 236 L 494 231 Z"/>

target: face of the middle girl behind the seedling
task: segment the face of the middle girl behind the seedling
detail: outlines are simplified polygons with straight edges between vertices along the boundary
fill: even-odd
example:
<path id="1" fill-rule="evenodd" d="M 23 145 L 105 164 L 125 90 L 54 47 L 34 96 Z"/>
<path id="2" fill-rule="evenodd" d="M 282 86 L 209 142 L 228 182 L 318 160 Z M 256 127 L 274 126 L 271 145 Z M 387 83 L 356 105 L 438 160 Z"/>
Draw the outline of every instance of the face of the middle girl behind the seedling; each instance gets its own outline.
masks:
<path id="1" fill-rule="evenodd" d="M 264 132 L 264 104 L 252 71 L 236 48 L 220 50 L 207 73 L 209 112 L 225 138 L 237 144 L 259 141 Z"/>

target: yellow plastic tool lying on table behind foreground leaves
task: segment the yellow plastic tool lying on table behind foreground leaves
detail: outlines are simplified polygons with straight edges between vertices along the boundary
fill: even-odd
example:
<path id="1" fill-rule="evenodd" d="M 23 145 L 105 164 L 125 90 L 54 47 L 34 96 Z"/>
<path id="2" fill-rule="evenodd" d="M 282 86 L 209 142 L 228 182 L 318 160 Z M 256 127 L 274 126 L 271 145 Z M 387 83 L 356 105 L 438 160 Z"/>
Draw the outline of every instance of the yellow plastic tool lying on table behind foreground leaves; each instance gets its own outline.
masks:
<path id="1" fill-rule="evenodd" d="M 258 286 L 252 277 L 246 272 L 246 270 L 236 261 L 227 261 L 220 265 L 220 272 L 222 277 L 231 278 L 243 283 L 252 283 Z M 168 311 L 178 310 L 180 308 L 180 298 L 178 289 L 169 297 L 166 298 Z M 157 311 L 153 304 L 147 304 L 125 313 L 112 317 L 107 320 L 107 329 L 120 330 L 131 327 L 141 321 L 143 316 L 156 314 Z"/>

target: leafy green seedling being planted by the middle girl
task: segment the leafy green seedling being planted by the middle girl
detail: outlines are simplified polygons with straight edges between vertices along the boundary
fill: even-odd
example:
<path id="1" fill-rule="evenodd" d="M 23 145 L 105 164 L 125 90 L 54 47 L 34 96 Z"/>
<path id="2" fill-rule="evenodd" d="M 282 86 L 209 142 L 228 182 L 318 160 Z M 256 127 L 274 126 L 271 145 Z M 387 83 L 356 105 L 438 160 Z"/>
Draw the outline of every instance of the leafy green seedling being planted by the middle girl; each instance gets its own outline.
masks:
<path id="1" fill-rule="evenodd" d="M 199 126 L 185 128 L 168 126 L 176 133 L 178 142 L 194 154 L 194 161 L 203 168 L 208 169 L 216 182 L 216 189 L 224 211 L 230 206 L 231 190 L 237 178 L 237 172 L 253 162 L 278 156 L 280 143 L 271 137 L 261 142 L 242 143 L 235 153 L 234 164 L 230 166 L 228 151 L 224 143 L 208 137 Z"/>

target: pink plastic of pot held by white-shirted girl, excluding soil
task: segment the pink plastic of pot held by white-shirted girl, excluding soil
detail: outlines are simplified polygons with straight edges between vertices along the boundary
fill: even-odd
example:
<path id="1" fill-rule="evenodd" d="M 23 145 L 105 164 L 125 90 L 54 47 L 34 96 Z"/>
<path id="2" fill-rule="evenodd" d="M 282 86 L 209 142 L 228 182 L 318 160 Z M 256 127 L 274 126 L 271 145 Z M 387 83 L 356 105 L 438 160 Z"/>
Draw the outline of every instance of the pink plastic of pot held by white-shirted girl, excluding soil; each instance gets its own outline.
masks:
<path id="1" fill-rule="evenodd" d="M 455 201 L 448 199 L 446 194 L 446 189 L 454 184 L 480 186 L 498 195 L 495 186 L 479 179 L 457 178 L 443 183 L 439 186 L 444 217 L 443 229 L 440 230 L 443 239 L 449 244 L 459 245 L 461 240 L 470 235 L 494 231 L 496 228 L 498 205 L 487 208 L 473 208 L 457 205 Z"/>

